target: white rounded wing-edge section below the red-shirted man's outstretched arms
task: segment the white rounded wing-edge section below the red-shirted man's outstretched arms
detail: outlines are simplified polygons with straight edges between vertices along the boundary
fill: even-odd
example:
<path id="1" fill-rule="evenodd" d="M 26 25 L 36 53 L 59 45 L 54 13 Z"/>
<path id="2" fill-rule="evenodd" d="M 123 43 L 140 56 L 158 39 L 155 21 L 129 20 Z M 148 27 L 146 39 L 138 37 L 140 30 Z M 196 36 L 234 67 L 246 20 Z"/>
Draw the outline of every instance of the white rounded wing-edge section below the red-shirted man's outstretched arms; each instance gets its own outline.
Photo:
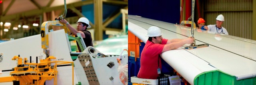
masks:
<path id="1" fill-rule="evenodd" d="M 191 53 L 184 51 L 182 48 L 166 51 L 161 56 L 164 61 L 178 71 L 190 84 L 194 83 L 196 75 L 206 71 L 218 70 L 209 65 L 210 63 L 195 55 L 191 55 Z"/>

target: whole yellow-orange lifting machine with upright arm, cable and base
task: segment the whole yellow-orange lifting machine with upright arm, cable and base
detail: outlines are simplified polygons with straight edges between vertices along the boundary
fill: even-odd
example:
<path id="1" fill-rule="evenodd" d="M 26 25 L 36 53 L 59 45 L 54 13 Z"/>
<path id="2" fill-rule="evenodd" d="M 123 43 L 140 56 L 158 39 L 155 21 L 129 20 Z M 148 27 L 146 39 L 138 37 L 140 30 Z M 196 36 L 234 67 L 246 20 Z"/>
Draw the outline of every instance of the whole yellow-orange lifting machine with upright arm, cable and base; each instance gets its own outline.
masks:
<path id="1" fill-rule="evenodd" d="M 49 34 L 49 27 L 50 26 L 59 26 L 65 30 L 65 33 L 69 33 L 70 31 L 66 27 L 66 24 L 62 24 L 60 22 L 61 19 L 66 17 L 66 0 L 64 0 L 64 14 L 59 17 L 59 20 L 54 21 L 47 21 L 42 23 L 41 26 L 41 43 L 42 49 L 44 49 L 44 53 L 46 54 L 46 59 L 40 59 L 40 63 L 30 63 L 28 62 L 27 58 L 22 58 L 20 55 L 14 56 L 12 60 L 17 61 L 17 67 L 14 67 L 14 71 L 10 72 L 12 77 L 2 77 L 2 82 L 13 81 L 14 85 L 44 85 L 46 80 L 54 79 L 54 85 L 57 85 L 57 65 L 61 64 L 72 64 L 72 81 L 74 83 L 74 63 L 72 61 L 51 61 L 51 59 L 56 59 L 56 57 L 50 56 L 49 53 L 49 41 L 48 41 L 48 34 Z M 38 59 L 36 59 L 38 60 Z M 51 66 L 51 63 L 55 63 L 54 66 Z"/>

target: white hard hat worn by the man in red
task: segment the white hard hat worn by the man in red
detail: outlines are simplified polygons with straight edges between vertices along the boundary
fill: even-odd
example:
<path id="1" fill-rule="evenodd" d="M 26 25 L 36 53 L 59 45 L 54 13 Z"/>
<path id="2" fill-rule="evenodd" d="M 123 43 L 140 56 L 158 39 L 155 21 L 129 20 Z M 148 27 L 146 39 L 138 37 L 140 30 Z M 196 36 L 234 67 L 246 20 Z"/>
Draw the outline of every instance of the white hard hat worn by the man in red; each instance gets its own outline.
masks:
<path id="1" fill-rule="evenodd" d="M 150 28 L 148 28 L 148 34 L 146 36 L 148 36 L 148 37 L 162 36 L 162 32 L 161 32 L 160 28 L 158 28 L 156 26 L 151 26 Z"/>

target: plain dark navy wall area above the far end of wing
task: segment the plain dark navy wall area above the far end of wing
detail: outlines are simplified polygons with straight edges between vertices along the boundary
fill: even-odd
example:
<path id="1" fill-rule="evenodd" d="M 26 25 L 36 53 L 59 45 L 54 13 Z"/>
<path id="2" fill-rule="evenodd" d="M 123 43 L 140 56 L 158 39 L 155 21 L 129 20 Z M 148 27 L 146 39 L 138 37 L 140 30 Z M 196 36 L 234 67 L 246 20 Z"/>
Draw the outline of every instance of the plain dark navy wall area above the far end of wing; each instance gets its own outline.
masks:
<path id="1" fill-rule="evenodd" d="M 129 0 L 129 15 L 170 23 L 180 21 L 180 0 Z"/>

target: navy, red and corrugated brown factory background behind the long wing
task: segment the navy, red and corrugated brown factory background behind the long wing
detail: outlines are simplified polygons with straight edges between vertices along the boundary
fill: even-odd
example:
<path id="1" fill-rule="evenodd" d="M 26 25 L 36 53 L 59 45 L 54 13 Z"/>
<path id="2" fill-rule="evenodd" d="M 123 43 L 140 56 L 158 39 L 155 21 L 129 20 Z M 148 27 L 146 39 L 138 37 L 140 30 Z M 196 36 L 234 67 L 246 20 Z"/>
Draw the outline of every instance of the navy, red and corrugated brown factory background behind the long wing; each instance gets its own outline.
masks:
<path id="1" fill-rule="evenodd" d="M 130 0 L 130 15 L 142 16 L 169 23 L 180 23 L 191 16 L 192 0 Z M 195 0 L 194 22 L 204 18 L 206 25 L 216 24 L 216 17 L 222 14 L 225 18 L 222 26 L 229 35 L 256 40 L 256 2 L 254 0 Z M 182 14 L 180 14 L 182 12 Z M 180 17 L 182 16 L 182 17 Z"/>

